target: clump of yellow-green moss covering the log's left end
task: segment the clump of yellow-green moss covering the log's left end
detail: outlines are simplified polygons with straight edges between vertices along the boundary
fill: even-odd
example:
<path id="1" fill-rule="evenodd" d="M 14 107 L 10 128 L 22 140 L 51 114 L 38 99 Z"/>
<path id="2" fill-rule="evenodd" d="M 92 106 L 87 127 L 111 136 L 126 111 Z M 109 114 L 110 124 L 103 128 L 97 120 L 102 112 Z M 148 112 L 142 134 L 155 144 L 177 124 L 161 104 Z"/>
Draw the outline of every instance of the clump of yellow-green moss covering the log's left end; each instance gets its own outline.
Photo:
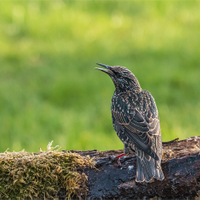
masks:
<path id="1" fill-rule="evenodd" d="M 87 195 L 87 176 L 81 173 L 94 167 L 90 157 L 75 153 L 40 151 L 0 154 L 0 198 L 56 198 L 61 189 L 67 198 Z"/>

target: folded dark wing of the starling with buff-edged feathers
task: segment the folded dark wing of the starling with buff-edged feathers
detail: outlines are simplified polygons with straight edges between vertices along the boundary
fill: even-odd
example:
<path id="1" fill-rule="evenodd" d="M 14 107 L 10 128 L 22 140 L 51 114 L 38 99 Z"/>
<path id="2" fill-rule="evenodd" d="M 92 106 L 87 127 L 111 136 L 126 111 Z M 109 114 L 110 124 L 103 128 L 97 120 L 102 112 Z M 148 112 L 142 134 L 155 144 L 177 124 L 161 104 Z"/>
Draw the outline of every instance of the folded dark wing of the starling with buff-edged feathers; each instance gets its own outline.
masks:
<path id="1" fill-rule="evenodd" d="M 155 107 L 154 101 L 146 102 L 148 106 L 143 106 L 144 111 L 140 111 L 138 106 L 131 104 L 130 101 L 123 101 L 120 95 L 116 98 L 117 103 L 112 108 L 115 121 L 123 126 L 125 134 L 138 148 L 148 153 L 152 146 L 151 136 L 159 133 L 159 119 L 152 108 Z"/>

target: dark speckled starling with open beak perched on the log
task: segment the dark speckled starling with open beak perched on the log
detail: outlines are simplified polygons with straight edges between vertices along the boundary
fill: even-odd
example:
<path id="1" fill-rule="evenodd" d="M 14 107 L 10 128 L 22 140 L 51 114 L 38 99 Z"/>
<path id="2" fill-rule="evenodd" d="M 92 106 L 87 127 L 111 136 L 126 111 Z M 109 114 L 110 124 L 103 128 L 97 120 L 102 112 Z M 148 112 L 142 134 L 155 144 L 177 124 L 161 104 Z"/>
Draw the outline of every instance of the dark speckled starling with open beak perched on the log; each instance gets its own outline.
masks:
<path id="1" fill-rule="evenodd" d="M 135 75 L 125 67 L 95 67 L 110 76 L 115 91 L 111 100 L 113 128 L 124 144 L 124 156 L 137 157 L 136 182 L 164 180 L 161 168 L 162 139 L 155 100 L 150 92 L 141 88 Z"/>

